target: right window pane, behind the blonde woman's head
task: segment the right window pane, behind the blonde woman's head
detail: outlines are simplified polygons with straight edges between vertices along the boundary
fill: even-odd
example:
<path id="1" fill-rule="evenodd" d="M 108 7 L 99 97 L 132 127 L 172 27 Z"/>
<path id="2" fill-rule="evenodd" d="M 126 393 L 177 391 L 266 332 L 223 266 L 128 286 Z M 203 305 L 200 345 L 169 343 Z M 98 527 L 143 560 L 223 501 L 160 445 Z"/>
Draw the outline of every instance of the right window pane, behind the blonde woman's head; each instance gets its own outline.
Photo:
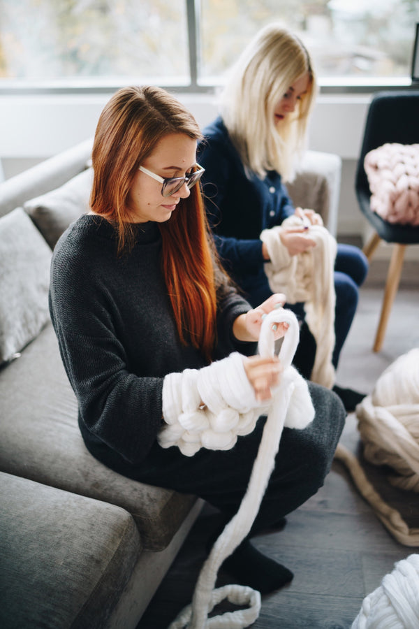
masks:
<path id="1" fill-rule="evenodd" d="M 201 78 L 213 82 L 269 22 L 300 36 L 325 77 L 411 75 L 418 0 L 201 0 Z"/>

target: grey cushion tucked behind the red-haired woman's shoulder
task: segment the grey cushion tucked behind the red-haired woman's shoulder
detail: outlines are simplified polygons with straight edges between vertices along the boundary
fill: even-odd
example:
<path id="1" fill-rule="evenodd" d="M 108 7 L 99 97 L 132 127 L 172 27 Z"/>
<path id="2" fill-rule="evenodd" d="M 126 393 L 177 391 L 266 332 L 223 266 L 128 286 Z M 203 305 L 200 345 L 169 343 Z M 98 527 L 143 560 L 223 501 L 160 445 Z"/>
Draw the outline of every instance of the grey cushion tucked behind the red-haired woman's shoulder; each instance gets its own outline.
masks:
<path id="1" fill-rule="evenodd" d="M 43 237 L 54 249 L 61 233 L 89 210 L 93 168 L 87 168 L 64 185 L 24 203 Z"/>

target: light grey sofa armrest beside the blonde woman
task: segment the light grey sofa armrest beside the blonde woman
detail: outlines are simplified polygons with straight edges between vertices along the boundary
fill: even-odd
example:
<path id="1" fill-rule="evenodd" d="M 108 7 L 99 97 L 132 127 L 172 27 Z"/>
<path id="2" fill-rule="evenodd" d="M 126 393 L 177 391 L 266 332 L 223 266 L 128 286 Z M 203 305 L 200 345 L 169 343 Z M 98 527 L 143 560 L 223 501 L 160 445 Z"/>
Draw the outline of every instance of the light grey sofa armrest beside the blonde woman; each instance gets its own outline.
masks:
<path id="1" fill-rule="evenodd" d="M 341 158 L 334 153 L 307 151 L 287 189 L 295 207 L 316 210 L 332 236 L 337 234 Z"/>

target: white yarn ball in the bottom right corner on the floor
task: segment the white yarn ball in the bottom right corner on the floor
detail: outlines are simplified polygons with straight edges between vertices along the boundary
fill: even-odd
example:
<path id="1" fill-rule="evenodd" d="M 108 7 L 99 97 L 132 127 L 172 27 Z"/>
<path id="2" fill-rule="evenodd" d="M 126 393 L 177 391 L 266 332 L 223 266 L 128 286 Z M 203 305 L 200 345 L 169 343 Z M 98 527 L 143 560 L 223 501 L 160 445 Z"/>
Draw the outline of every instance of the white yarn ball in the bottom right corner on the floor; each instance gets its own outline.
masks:
<path id="1" fill-rule="evenodd" d="M 351 629 L 418 629 L 419 555 L 395 564 L 381 586 L 369 594 Z"/>

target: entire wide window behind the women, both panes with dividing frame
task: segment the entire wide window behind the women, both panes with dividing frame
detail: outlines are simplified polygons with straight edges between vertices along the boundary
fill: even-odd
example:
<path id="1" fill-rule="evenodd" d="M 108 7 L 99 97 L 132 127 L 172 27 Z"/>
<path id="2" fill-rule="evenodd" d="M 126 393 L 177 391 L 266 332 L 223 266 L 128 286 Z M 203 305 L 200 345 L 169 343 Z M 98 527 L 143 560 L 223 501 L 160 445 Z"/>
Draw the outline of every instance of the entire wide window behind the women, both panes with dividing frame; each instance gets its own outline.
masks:
<path id="1" fill-rule="evenodd" d="M 321 83 L 411 75 L 418 0 L 0 0 L 1 85 L 199 89 L 222 82 L 249 38 L 281 21 Z"/>

